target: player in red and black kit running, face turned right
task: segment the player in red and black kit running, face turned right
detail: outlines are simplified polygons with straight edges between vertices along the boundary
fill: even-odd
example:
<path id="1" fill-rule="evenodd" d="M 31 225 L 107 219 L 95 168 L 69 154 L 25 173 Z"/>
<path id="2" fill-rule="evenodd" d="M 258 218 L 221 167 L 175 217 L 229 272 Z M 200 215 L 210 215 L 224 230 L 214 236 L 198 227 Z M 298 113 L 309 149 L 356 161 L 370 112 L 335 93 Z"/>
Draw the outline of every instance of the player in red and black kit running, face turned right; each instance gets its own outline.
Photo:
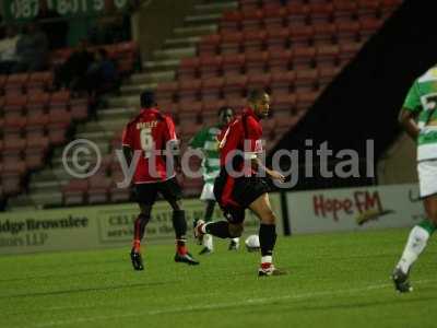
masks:
<path id="1" fill-rule="evenodd" d="M 214 183 L 214 195 L 226 221 L 198 221 L 194 236 L 200 238 L 203 234 L 211 234 L 221 238 L 239 237 L 248 208 L 261 221 L 261 266 L 258 274 L 279 276 L 285 272 L 272 263 L 276 218 L 270 206 L 270 185 L 267 179 L 284 181 L 284 176 L 269 169 L 260 161 L 263 152 L 260 120 L 269 115 L 270 96 L 263 90 L 255 90 L 249 93 L 248 103 L 249 106 L 229 124 L 220 140 L 221 173 Z"/>

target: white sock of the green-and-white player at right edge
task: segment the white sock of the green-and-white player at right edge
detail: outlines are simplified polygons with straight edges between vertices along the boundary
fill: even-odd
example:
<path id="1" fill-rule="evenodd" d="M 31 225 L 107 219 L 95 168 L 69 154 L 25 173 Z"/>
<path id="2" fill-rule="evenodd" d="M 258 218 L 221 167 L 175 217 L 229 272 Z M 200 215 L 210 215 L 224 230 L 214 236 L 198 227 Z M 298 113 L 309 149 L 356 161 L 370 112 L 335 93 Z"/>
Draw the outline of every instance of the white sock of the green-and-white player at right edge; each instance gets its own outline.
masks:
<path id="1" fill-rule="evenodd" d="M 418 225 L 414 226 L 397 268 L 401 268 L 404 273 L 409 272 L 410 267 L 425 249 L 428 238 L 429 233 L 425 229 Z"/>

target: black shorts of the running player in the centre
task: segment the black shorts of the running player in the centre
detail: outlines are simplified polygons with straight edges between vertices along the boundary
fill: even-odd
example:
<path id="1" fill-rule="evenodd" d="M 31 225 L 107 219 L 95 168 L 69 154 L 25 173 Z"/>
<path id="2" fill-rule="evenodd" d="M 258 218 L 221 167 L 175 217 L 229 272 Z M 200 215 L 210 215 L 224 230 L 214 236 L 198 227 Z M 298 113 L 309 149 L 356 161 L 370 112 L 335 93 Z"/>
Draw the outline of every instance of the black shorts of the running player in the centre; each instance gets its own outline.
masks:
<path id="1" fill-rule="evenodd" d="M 226 192 L 226 186 L 229 179 L 234 179 L 231 190 L 231 199 L 234 204 L 224 204 L 222 196 Z M 226 169 L 222 168 L 220 175 L 214 183 L 214 196 L 221 206 L 225 218 L 231 223 L 241 223 L 245 221 L 245 210 L 260 196 L 271 191 L 268 178 L 250 176 L 250 177 L 231 177 Z"/>

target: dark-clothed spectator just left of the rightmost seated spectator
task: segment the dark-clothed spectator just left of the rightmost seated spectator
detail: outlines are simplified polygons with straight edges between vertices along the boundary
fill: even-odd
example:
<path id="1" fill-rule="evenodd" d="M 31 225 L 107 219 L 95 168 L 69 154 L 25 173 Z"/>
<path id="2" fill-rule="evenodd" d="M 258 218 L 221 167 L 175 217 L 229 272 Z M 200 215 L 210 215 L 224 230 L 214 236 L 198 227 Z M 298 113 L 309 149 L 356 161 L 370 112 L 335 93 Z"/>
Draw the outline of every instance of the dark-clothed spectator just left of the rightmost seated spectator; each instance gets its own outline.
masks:
<path id="1" fill-rule="evenodd" d="M 84 89 L 79 84 L 83 83 L 90 66 L 94 61 L 94 55 L 86 49 L 86 42 L 79 43 L 78 48 L 66 62 L 55 69 L 55 86 Z"/>

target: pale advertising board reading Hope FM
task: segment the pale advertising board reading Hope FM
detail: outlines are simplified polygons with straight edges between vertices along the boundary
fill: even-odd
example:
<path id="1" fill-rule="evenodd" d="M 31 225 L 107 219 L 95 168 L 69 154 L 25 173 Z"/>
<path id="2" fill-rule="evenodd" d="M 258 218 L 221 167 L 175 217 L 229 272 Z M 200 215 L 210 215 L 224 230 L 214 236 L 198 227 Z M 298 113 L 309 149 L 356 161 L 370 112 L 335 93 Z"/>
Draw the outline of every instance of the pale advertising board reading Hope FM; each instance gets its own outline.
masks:
<path id="1" fill-rule="evenodd" d="M 416 184 L 288 192 L 292 234 L 406 227 L 425 218 Z"/>

